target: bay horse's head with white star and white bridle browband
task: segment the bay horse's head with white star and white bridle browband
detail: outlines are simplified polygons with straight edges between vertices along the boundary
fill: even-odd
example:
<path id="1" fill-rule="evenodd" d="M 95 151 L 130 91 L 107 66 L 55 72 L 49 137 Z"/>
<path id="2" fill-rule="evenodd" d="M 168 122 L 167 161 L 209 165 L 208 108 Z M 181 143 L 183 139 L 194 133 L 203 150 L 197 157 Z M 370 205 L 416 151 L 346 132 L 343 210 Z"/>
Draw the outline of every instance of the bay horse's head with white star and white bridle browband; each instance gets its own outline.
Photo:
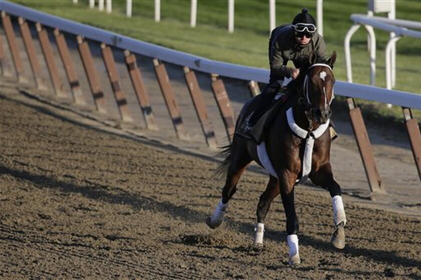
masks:
<path id="1" fill-rule="evenodd" d="M 333 64 L 336 60 L 336 52 L 327 60 L 317 61 L 316 55 L 310 55 L 309 66 L 303 73 L 300 92 L 300 103 L 305 106 L 306 115 L 309 120 L 313 119 L 322 124 L 332 115 L 330 103 L 334 98 L 333 85 L 335 76 Z"/>

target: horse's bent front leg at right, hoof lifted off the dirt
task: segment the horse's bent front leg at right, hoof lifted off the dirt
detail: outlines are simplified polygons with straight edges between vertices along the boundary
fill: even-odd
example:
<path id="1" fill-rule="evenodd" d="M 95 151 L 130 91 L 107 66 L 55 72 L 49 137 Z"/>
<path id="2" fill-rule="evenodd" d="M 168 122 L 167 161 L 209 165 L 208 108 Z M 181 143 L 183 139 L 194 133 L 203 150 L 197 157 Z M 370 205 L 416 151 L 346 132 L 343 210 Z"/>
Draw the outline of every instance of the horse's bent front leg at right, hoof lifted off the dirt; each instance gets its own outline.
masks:
<path id="1" fill-rule="evenodd" d="M 343 249 L 345 247 L 345 224 L 346 215 L 342 202 L 342 191 L 340 185 L 333 178 L 332 167 L 330 163 L 323 165 L 317 172 L 310 175 L 313 183 L 322 187 L 327 187 L 332 197 L 333 223 L 336 226 L 332 234 L 331 242 L 334 247 Z"/>

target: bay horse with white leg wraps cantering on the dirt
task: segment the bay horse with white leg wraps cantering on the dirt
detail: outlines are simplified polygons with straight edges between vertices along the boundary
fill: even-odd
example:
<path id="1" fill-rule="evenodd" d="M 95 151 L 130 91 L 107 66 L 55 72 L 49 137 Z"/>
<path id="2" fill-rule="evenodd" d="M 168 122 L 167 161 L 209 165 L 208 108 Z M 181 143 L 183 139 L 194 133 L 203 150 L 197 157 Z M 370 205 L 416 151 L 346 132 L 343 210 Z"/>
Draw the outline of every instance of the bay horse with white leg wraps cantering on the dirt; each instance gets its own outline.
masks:
<path id="1" fill-rule="evenodd" d="M 240 133 L 240 127 L 244 126 L 251 113 L 249 103 L 253 99 L 243 106 L 233 141 L 223 151 L 226 157 L 219 166 L 227 172 L 222 200 L 213 215 L 206 219 L 210 228 L 223 223 L 240 176 L 252 160 L 256 161 L 269 171 L 270 178 L 257 206 L 254 245 L 263 245 L 266 214 L 272 200 L 281 194 L 287 218 L 289 263 L 292 266 L 301 262 L 297 236 L 299 227 L 294 205 L 294 186 L 298 181 L 304 182 L 310 178 L 314 184 L 329 190 L 335 226 L 331 242 L 336 248 L 345 247 L 346 216 L 341 188 L 333 177 L 330 164 L 331 137 L 328 128 L 332 113 L 330 103 L 334 97 L 335 77 L 332 68 L 335 60 L 335 51 L 327 60 L 318 63 L 316 55 L 310 55 L 309 66 L 301 69 L 296 79 L 297 92 L 290 97 L 295 99 L 276 113 L 260 144 Z"/>

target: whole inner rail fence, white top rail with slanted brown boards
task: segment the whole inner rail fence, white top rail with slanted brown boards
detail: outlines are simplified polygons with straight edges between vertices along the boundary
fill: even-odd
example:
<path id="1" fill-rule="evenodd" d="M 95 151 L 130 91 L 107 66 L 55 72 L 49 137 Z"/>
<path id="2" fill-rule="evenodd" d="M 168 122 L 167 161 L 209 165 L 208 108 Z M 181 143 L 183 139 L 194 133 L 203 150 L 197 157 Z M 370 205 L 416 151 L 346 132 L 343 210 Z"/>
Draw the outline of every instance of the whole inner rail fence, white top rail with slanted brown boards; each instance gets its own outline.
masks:
<path id="1" fill-rule="evenodd" d="M 75 69 L 75 61 L 73 61 L 70 55 L 67 44 L 69 38 L 66 39 L 64 37 L 64 33 L 72 34 L 76 39 L 76 42 L 73 43 L 76 43 L 77 45 L 84 68 L 84 74 L 89 82 L 96 110 L 107 113 L 103 84 L 101 84 L 98 69 L 95 66 L 91 52 L 92 47 L 98 48 L 99 46 L 99 51 L 105 65 L 121 119 L 124 121 L 132 121 L 133 117 L 128 109 L 127 96 L 122 90 L 120 78 L 121 69 L 120 71 L 118 70 L 113 56 L 113 53 L 116 52 L 121 53 L 124 57 L 127 71 L 126 74 L 128 73 L 130 77 L 131 85 L 143 114 L 146 127 L 148 129 L 156 130 L 159 127 L 155 120 L 141 70 L 137 65 L 136 55 L 150 57 L 153 59 L 156 80 L 159 84 L 175 134 L 178 138 L 188 141 L 189 136 L 187 128 L 181 117 L 180 106 L 178 105 L 178 100 L 176 100 L 165 63 L 182 66 L 188 92 L 194 105 L 205 141 L 209 147 L 217 147 L 217 141 L 213 125 L 208 116 L 203 94 L 201 93 L 194 71 L 206 73 L 210 76 L 210 87 L 212 88 L 215 102 L 219 108 L 222 122 L 225 125 L 225 130 L 230 141 L 232 140 L 235 129 L 235 116 L 229 95 L 227 94 L 226 87 L 221 77 L 247 81 L 252 96 L 260 93 L 259 82 L 267 83 L 269 80 L 269 70 L 267 69 L 206 59 L 136 40 L 100 28 L 84 25 L 8 1 L 0 0 L 0 11 L 4 33 L 6 34 L 19 83 L 25 84 L 28 83 L 28 80 L 24 75 L 26 70 L 23 66 L 24 63 L 17 44 L 12 20 L 16 21 L 19 25 L 19 31 L 25 45 L 36 87 L 41 90 L 46 89 L 45 82 L 43 82 L 40 77 L 40 61 L 37 57 L 29 24 L 35 24 L 38 40 L 45 59 L 45 64 L 48 68 L 54 93 L 58 97 L 67 97 L 77 104 L 83 104 L 84 100 L 80 84 L 80 75 L 82 73 L 77 72 Z M 53 36 L 49 36 L 49 29 L 44 26 L 53 29 L 54 43 L 57 45 L 57 51 L 62 60 L 61 65 L 64 66 L 70 88 L 69 92 L 63 90 L 63 81 L 59 77 L 59 66 L 54 58 L 54 48 L 51 44 L 51 38 L 53 38 Z M 0 69 L 2 70 L 2 75 L 4 75 L 4 65 L 6 64 L 5 60 L 7 58 L 3 50 L 2 39 L 2 35 L 0 34 Z M 95 50 L 98 51 L 97 49 Z M 346 97 L 352 128 L 370 190 L 372 192 L 384 192 L 384 186 L 381 184 L 381 179 L 374 159 L 373 148 L 368 137 L 361 110 L 357 106 L 354 98 L 391 103 L 402 107 L 405 127 L 418 175 L 421 180 L 421 133 L 417 120 L 412 116 L 411 112 L 411 108 L 421 109 L 421 95 L 343 81 L 337 81 L 334 90 L 335 94 Z"/>

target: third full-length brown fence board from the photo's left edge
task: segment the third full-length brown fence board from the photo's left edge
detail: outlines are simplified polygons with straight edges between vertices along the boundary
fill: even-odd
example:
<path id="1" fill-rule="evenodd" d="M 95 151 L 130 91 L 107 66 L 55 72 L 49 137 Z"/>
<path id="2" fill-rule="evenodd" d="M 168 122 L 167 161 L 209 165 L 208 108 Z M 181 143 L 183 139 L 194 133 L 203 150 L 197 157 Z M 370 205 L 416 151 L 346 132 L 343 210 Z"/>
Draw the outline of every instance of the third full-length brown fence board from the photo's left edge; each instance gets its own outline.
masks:
<path id="1" fill-rule="evenodd" d="M 59 69 L 56 61 L 54 60 L 53 48 L 51 46 L 50 39 L 48 38 L 48 32 L 44 29 L 41 23 L 37 22 L 38 38 L 40 40 L 41 49 L 44 54 L 45 61 L 47 63 L 48 72 L 50 73 L 51 81 L 53 82 L 54 92 L 60 97 L 69 97 L 69 94 L 63 91 L 63 83 L 59 76 Z"/>

